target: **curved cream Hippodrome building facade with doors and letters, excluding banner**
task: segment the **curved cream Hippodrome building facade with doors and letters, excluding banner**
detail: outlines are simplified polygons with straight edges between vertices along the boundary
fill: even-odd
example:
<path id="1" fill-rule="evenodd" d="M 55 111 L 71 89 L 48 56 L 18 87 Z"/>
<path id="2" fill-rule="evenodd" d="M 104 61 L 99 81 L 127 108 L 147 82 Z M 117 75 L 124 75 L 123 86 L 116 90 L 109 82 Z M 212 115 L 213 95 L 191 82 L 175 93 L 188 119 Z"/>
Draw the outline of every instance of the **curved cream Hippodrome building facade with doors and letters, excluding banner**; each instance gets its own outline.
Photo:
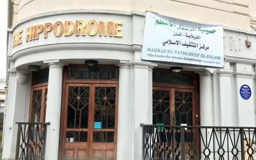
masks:
<path id="1" fill-rule="evenodd" d="M 49 122 L 45 159 L 143 159 L 141 124 L 255 126 L 253 0 L 9 6 L 2 159 L 15 159 L 16 122 Z M 147 11 L 223 26 L 223 67 L 141 59 Z"/>

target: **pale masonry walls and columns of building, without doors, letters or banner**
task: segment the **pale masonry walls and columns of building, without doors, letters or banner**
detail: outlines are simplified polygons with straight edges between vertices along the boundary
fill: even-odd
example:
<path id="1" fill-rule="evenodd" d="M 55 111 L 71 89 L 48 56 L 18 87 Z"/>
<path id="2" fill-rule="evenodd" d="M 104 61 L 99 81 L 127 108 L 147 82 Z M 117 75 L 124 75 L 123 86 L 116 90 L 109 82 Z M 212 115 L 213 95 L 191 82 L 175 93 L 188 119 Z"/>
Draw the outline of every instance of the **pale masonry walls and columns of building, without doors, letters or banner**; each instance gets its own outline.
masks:
<path id="1" fill-rule="evenodd" d="M 90 59 L 99 60 L 100 64 L 119 65 L 117 159 L 141 159 L 142 139 L 138 136 L 142 135 L 140 124 L 152 124 L 152 68 L 169 68 L 173 65 L 141 61 L 146 11 L 192 22 L 224 26 L 225 67 L 205 68 L 184 65 L 184 70 L 193 70 L 200 74 L 200 123 L 207 126 L 255 126 L 256 0 L 12 1 L 14 25 L 13 30 L 8 33 L 10 67 L 8 67 L 7 98 L 9 100 L 6 100 L 2 159 L 10 160 L 15 157 L 17 138 L 15 122 L 28 122 L 31 90 L 31 72 L 28 72 L 28 65 L 47 68 L 50 62 L 61 61 L 63 65 L 82 64 L 84 60 Z M 122 20 L 121 33 L 124 36 L 122 38 L 99 35 L 82 37 L 74 34 L 54 36 L 51 32 L 48 38 L 44 38 L 41 34 L 38 40 L 26 42 L 24 39 L 26 28 L 30 26 L 45 22 L 54 23 L 56 20 L 64 22 L 64 20 L 78 19 Z M 15 24 L 19 25 L 15 26 Z M 12 48 L 12 34 L 21 29 L 24 31 L 23 43 Z M 246 47 L 246 41 L 252 42 L 252 46 Z M 60 66 L 55 70 L 56 72 L 51 71 L 54 76 L 49 78 L 51 81 L 49 84 L 52 86 L 54 83 L 61 84 Z M 23 77 L 29 75 L 24 83 L 19 81 L 22 75 Z M 243 84 L 248 84 L 253 91 L 252 97 L 248 100 L 244 100 L 239 93 L 239 88 Z M 61 88 L 54 90 L 60 92 Z M 48 95 L 52 97 L 51 95 L 61 94 L 52 92 Z M 49 110 L 49 114 L 46 114 L 46 119 L 51 121 L 51 126 L 56 129 L 47 130 L 47 138 L 49 141 L 51 138 L 54 139 L 55 142 L 51 142 L 55 146 L 54 150 L 51 149 L 52 146 L 47 147 L 46 156 L 58 157 L 56 150 L 60 115 L 52 116 L 50 113 L 51 111 L 61 113 L 60 97 L 48 99 L 47 109 L 49 106 L 58 106 L 58 109 L 54 107 L 53 110 Z M 141 115 L 141 113 L 145 114 Z M 51 145 L 51 143 L 47 144 Z"/>

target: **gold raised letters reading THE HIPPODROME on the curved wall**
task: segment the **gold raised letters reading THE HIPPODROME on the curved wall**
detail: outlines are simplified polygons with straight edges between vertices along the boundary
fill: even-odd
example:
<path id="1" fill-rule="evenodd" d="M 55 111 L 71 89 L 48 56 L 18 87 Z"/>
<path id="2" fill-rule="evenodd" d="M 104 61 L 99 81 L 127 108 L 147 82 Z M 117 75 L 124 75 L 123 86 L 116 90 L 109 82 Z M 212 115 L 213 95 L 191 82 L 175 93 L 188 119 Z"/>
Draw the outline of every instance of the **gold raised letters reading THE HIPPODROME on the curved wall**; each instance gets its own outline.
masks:
<path id="1" fill-rule="evenodd" d="M 38 24 L 35 26 L 29 26 L 26 28 L 26 42 L 32 40 L 39 40 L 40 34 L 44 33 L 42 36 L 44 38 L 48 38 L 48 33 L 53 31 L 54 36 L 114 36 L 122 38 L 123 34 L 121 33 L 123 22 L 121 21 L 108 21 L 104 22 L 102 20 L 89 20 L 87 23 L 84 20 L 65 20 L 64 22 L 58 20 L 56 22 L 51 23 L 47 22 L 45 24 Z M 17 45 L 22 44 L 22 31 L 17 31 L 17 33 L 13 33 L 13 48 Z"/>

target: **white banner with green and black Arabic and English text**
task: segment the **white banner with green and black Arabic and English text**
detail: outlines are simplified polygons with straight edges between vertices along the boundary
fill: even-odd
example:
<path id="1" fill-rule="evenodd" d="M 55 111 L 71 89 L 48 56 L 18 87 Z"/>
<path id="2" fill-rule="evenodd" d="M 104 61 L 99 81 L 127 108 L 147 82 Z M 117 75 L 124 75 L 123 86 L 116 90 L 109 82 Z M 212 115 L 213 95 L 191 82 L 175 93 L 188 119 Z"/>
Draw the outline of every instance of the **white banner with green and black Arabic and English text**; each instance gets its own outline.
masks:
<path id="1" fill-rule="evenodd" d="M 147 12 L 142 59 L 223 67 L 223 28 Z"/>

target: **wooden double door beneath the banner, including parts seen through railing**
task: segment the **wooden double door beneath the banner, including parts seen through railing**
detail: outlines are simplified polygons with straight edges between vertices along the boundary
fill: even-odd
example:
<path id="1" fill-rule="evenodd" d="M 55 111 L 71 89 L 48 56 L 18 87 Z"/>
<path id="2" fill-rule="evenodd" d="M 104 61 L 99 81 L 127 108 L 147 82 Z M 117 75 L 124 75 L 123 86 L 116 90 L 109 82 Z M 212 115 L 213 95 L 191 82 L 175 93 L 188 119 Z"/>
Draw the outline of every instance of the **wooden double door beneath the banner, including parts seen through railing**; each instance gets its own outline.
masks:
<path id="1" fill-rule="evenodd" d="M 183 88 L 166 88 L 166 87 L 154 87 L 153 89 L 153 124 L 157 125 L 198 125 L 196 122 L 196 108 L 195 90 L 183 89 Z M 175 130 L 175 136 L 180 137 L 180 130 Z M 163 131 L 159 131 L 159 135 L 166 135 Z M 196 141 L 195 144 L 199 144 L 198 139 L 195 138 L 195 130 L 189 128 L 185 131 L 185 150 L 191 148 L 199 150 L 199 145 L 191 146 L 192 141 Z M 177 138 L 177 148 L 180 139 Z M 168 144 L 166 144 L 168 145 Z M 156 157 L 162 154 L 156 153 Z M 186 154 L 186 158 L 189 158 Z"/>

